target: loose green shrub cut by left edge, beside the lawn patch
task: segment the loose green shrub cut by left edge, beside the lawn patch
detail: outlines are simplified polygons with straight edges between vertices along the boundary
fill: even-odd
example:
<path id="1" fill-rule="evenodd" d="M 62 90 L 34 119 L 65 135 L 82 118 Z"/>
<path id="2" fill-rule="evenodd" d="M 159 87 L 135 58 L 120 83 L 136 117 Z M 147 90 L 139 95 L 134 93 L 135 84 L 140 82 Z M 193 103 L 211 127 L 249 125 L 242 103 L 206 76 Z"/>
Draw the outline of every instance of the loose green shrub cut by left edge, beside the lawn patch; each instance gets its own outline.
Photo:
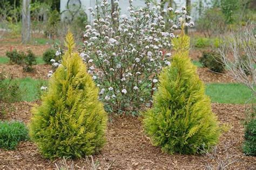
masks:
<path id="1" fill-rule="evenodd" d="M 0 73 L 0 101 L 8 103 L 21 101 L 23 93 L 18 81 L 8 79 L 6 74 Z"/>

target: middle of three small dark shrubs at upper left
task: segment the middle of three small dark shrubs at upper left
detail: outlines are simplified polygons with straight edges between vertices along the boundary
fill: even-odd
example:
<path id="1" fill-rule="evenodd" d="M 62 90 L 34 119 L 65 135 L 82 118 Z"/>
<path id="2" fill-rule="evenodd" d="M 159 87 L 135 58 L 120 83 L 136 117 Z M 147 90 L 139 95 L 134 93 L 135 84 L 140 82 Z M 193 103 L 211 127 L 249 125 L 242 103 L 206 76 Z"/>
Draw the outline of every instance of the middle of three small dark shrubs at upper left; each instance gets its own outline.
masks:
<path id="1" fill-rule="evenodd" d="M 32 72 L 34 69 L 33 65 L 36 65 L 36 55 L 29 49 L 28 54 L 23 59 L 23 70 L 24 72 Z"/>

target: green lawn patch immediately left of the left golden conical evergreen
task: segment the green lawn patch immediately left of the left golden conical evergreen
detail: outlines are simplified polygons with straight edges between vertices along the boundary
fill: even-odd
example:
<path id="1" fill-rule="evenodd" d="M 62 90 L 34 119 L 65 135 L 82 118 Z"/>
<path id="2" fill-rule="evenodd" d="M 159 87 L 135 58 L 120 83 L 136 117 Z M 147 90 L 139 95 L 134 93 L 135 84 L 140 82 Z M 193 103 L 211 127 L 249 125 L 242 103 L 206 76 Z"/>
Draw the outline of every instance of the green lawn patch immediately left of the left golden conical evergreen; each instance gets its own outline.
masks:
<path id="1" fill-rule="evenodd" d="M 25 90 L 25 94 L 22 96 L 22 101 L 35 101 L 39 99 L 41 95 L 41 86 L 45 86 L 47 81 L 39 79 L 31 79 L 26 77 L 24 79 L 15 79 L 20 83 L 21 89 Z"/>

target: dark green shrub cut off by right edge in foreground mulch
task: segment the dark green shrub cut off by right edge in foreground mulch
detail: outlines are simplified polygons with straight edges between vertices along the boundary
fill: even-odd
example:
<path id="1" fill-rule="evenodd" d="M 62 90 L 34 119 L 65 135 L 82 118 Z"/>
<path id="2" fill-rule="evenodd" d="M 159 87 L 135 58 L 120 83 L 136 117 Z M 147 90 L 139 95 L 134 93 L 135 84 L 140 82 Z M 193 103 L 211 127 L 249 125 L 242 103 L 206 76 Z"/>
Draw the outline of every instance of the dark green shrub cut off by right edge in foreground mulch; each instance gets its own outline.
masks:
<path id="1" fill-rule="evenodd" d="M 245 125 L 245 143 L 243 146 L 246 155 L 256 156 L 256 119 Z"/>

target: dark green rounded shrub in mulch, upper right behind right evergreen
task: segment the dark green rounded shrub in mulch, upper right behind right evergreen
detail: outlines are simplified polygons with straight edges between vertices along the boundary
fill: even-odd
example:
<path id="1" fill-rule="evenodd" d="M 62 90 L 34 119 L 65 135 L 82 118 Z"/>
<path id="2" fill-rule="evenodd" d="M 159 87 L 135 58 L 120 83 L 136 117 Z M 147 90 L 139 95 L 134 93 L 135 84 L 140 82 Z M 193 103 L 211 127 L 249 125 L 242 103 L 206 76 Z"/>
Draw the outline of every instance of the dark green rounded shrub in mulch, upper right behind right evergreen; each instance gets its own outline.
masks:
<path id="1" fill-rule="evenodd" d="M 210 51 L 210 52 L 203 52 L 203 56 L 199 59 L 199 61 L 203 64 L 204 67 L 212 70 L 213 72 L 217 73 L 224 73 L 225 66 L 221 62 L 221 56 L 219 53 Z"/>

